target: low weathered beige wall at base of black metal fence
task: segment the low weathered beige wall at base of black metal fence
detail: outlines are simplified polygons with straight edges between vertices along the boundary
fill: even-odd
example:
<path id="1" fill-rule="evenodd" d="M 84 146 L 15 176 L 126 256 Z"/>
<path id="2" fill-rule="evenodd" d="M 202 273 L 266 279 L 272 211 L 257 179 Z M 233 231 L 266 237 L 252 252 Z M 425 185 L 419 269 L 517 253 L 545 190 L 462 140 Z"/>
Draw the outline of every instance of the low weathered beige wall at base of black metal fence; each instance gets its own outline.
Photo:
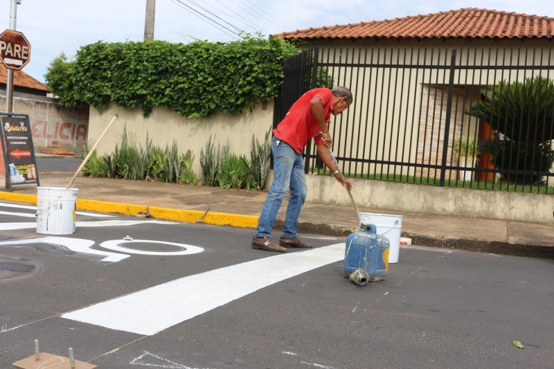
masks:
<path id="1" fill-rule="evenodd" d="M 307 175 L 308 202 L 352 206 L 348 192 L 334 177 Z M 273 179 L 272 173 L 268 182 Z M 394 214 L 429 213 L 554 224 L 554 196 L 468 190 L 350 179 L 352 196 L 364 208 Z M 352 212 L 354 212 L 352 208 Z M 436 224 L 440 227 L 440 224 Z M 468 230 L 471 231 L 471 230 Z"/>

